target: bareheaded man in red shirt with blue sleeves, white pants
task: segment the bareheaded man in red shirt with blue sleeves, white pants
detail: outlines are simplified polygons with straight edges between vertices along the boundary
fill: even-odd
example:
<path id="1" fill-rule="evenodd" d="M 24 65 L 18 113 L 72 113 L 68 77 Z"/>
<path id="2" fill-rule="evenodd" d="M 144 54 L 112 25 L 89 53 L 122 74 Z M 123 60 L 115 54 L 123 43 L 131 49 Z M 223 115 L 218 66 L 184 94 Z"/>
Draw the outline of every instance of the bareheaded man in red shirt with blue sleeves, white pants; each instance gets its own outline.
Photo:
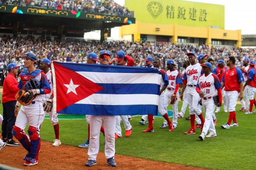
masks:
<path id="1" fill-rule="evenodd" d="M 227 108 L 229 108 L 229 120 L 227 123 L 223 124 L 221 127 L 224 129 L 229 129 L 230 127 L 238 126 L 236 120 L 236 104 L 237 97 L 239 95 L 240 100 L 243 98 L 243 88 L 244 88 L 244 77 L 242 75 L 241 70 L 235 67 L 236 59 L 234 57 L 229 57 L 227 61 L 227 69 L 222 77 L 222 88 L 225 87 L 226 91 L 226 102 Z M 231 121 L 233 120 L 233 123 Z"/>

